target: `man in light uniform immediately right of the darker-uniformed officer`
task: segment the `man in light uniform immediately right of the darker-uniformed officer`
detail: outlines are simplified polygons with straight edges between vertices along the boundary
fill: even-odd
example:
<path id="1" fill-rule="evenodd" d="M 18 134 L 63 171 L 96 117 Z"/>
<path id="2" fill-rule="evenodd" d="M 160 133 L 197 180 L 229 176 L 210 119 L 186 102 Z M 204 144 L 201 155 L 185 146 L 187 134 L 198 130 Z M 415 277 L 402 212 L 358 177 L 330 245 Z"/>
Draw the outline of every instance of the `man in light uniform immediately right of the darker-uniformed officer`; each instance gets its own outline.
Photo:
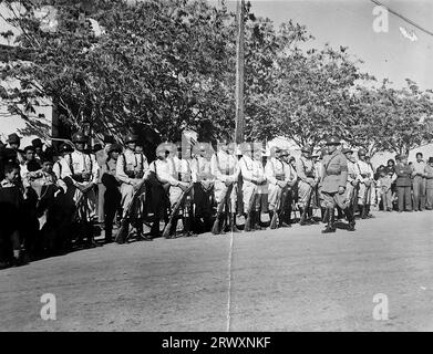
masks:
<path id="1" fill-rule="evenodd" d="M 367 150 L 360 148 L 358 150 L 359 160 L 357 162 L 357 169 L 359 174 L 359 191 L 358 191 L 358 205 L 361 210 L 361 218 L 372 218 L 370 215 L 370 204 L 371 204 L 371 188 L 373 187 L 373 175 L 374 171 L 371 168 L 371 165 L 365 160 Z"/>

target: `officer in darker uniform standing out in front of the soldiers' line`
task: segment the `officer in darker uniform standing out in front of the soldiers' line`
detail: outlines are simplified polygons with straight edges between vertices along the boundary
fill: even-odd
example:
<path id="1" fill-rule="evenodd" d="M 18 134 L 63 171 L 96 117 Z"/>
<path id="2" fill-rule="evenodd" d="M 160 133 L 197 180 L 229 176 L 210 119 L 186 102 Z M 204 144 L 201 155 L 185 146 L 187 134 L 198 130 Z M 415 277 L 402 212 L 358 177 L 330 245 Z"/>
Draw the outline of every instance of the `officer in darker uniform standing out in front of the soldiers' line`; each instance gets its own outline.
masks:
<path id="1" fill-rule="evenodd" d="M 322 233 L 336 232 L 334 226 L 334 207 L 339 206 L 343 210 L 348 221 L 348 231 L 354 231 L 354 217 L 350 204 L 346 200 L 346 186 L 348 183 L 348 163 L 346 156 L 337 148 L 340 139 L 331 136 L 327 139 L 328 155 L 323 157 L 322 169 L 322 195 L 324 205 L 328 209 L 326 212 L 327 227 Z"/>

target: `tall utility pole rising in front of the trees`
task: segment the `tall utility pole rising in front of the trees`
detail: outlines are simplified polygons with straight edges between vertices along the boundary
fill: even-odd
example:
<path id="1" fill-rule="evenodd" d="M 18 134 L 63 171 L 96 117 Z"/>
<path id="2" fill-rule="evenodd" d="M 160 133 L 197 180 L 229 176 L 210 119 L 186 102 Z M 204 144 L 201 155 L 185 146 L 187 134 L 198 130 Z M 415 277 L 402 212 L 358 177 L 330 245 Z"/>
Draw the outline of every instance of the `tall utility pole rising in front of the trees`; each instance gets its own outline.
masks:
<path id="1" fill-rule="evenodd" d="M 237 39 L 236 39 L 236 144 L 244 142 L 244 17 L 245 0 L 237 0 Z"/>

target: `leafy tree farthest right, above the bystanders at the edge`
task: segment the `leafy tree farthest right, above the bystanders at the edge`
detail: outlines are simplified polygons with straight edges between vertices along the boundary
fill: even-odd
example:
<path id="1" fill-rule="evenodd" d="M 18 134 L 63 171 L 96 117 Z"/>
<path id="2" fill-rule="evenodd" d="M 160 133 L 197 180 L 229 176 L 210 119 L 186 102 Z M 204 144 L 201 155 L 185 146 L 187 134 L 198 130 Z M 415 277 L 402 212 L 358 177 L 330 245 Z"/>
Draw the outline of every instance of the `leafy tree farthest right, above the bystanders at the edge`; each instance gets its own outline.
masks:
<path id="1" fill-rule="evenodd" d="M 433 96 L 411 80 L 396 90 L 384 80 L 378 88 L 358 87 L 354 95 L 358 110 L 348 119 L 347 139 L 364 146 L 370 154 L 394 152 L 408 154 L 412 148 L 430 143 L 433 135 Z"/>

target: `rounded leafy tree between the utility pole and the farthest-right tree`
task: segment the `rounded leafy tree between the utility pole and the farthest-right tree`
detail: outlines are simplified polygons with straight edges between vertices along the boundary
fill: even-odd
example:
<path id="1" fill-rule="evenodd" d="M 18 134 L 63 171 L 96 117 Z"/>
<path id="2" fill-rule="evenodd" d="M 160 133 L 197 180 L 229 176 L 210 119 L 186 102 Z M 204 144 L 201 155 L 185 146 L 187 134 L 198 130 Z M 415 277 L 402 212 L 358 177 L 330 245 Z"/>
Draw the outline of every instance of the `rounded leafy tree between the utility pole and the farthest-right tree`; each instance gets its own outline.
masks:
<path id="1" fill-rule="evenodd" d="M 343 116 L 350 110 L 350 90 L 368 79 L 347 48 L 297 49 L 279 61 L 280 76 L 270 97 L 276 129 L 297 145 L 319 145 L 330 134 L 344 136 Z"/>

